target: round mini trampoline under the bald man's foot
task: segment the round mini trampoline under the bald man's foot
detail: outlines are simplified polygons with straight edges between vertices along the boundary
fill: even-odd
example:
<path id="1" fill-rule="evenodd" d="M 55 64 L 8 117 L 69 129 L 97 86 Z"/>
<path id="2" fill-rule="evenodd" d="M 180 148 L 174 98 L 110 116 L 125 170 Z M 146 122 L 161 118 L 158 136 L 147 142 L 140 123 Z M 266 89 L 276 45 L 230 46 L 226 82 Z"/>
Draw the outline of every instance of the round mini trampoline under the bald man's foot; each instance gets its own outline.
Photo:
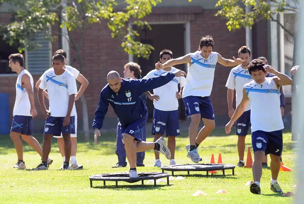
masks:
<path id="1" fill-rule="evenodd" d="M 156 180 L 160 178 L 167 178 L 167 185 L 169 186 L 169 174 L 168 173 L 157 173 L 157 172 L 138 172 L 137 178 L 130 178 L 129 173 L 113 173 L 113 174 L 97 174 L 89 177 L 90 186 L 92 188 L 92 181 L 99 180 L 103 181 L 103 185 L 106 186 L 106 181 L 115 181 L 116 188 L 118 188 L 118 181 L 125 181 L 128 183 L 135 183 L 141 181 L 141 184 L 144 185 L 144 180 L 154 180 L 154 186 L 156 186 Z"/>

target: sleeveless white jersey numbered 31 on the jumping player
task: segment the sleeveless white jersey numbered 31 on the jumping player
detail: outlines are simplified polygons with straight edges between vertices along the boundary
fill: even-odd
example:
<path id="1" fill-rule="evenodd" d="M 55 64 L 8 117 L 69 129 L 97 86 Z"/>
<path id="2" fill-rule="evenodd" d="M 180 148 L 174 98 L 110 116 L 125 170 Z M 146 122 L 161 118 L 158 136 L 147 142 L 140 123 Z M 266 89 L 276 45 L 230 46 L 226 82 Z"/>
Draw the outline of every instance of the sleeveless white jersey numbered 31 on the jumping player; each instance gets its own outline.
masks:
<path id="1" fill-rule="evenodd" d="M 191 65 L 183 89 L 183 98 L 187 96 L 210 96 L 214 80 L 215 65 L 218 62 L 218 53 L 211 52 L 207 59 L 201 51 L 190 53 Z"/>

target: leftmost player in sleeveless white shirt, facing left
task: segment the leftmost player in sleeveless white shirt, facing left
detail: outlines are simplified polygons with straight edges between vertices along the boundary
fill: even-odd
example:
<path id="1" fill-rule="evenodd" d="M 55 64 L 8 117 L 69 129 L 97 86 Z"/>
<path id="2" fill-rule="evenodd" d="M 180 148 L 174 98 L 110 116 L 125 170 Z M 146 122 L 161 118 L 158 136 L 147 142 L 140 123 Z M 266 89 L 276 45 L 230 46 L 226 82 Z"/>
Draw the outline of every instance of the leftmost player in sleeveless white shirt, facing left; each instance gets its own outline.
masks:
<path id="1" fill-rule="evenodd" d="M 32 75 L 24 69 L 24 57 L 22 54 L 12 54 L 8 56 L 9 67 L 18 74 L 16 81 L 16 99 L 13 109 L 13 123 L 10 131 L 13 140 L 18 162 L 14 168 L 25 169 L 23 160 L 23 147 L 21 138 L 28 143 L 42 157 L 42 148 L 33 133 L 33 118 L 37 115 L 33 93 L 34 80 Z M 52 164 L 53 160 L 48 158 L 47 165 Z"/>

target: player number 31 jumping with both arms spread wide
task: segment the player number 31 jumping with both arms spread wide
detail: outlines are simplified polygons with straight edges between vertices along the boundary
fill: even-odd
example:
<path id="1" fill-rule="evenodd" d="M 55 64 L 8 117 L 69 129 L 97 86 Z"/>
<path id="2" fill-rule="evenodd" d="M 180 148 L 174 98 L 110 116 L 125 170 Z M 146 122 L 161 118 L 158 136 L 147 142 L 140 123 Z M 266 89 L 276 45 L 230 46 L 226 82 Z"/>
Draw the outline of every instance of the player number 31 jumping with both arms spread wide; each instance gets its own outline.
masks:
<path id="1" fill-rule="evenodd" d="M 186 145 L 187 157 L 194 163 L 202 161 L 197 147 L 215 127 L 215 115 L 209 97 L 213 86 L 215 66 L 217 63 L 223 66 L 236 66 L 243 62 L 235 57 L 233 60 L 225 59 L 219 53 L 213 52 L 213 47 L 213 38 L 207 35 L 200 40 L 198 51 L 168 60 L 164 64 L 160 62 L 155 64 L 157 70 L 184 63 L 190 64 L 182 98 L 186 106 L 186 116 L 191 117 L 190 144 Z M 204 127 L 197 134 L 201 119 L 204 122 Z"/>

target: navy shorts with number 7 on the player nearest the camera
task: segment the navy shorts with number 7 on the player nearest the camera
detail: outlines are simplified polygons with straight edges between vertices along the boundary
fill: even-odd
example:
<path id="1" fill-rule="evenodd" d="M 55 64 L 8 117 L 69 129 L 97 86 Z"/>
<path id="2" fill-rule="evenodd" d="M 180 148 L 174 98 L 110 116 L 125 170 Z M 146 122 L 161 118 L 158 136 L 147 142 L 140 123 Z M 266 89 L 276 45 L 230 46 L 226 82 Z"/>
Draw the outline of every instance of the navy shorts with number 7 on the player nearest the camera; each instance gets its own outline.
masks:
<path id="1" fill-rule="evenodd" d="M 263 151 L 265 155 L 274 154 L 281 156 L 283 149 L 282 130 L 265 132 L 262 130 L 254 131 L 251 135 L 253 152 Z"/>

